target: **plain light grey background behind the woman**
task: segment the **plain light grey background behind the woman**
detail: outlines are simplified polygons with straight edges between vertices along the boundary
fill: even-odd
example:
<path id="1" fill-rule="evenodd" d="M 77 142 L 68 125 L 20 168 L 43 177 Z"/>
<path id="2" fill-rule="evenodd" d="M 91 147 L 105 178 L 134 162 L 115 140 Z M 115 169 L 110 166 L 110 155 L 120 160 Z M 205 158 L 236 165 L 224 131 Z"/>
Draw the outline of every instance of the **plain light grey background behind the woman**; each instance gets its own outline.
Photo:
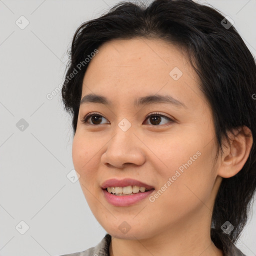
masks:
<path id="1" fill-rule="evenodd" d="M 91 213 L 73 169 L 71 118 L 60 92 L 75 29 L 118 0 L 0 0 L 0 255 L 47 256 L 95 246 L 105 230 Z M 256 54 L 256 0 L 204 0 L 234 20 Z M 20 29 L 23 15 L 29 24 Z M 25 24 L 24 19 L 22 24 Z M 21 131 L 16 123 L 28 123 Z M 256 207 L 237 247 L 256 255 Z M 29 226 L 24 230 L 23 220 Z M 15 228 L 17 226 L 17 229 Z"/>

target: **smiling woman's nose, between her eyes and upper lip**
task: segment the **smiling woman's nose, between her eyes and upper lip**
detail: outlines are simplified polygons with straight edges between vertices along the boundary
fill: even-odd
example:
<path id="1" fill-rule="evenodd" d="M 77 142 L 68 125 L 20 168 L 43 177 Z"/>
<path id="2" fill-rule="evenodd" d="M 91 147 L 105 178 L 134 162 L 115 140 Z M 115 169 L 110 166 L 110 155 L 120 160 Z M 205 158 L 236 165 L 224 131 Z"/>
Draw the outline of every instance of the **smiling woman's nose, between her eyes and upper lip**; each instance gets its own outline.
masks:
<path id="1" fill-rule="evenodd" d="M 114 135 L 107 143 L 106 151 L 101 156 L 101 162 L 108 167 L 119 169 L 128 164 L 142 165 L 145 162 L 143 148 L 146 146 L 138 137 L 132 126 L 126 131 L 117 126 Z"/>

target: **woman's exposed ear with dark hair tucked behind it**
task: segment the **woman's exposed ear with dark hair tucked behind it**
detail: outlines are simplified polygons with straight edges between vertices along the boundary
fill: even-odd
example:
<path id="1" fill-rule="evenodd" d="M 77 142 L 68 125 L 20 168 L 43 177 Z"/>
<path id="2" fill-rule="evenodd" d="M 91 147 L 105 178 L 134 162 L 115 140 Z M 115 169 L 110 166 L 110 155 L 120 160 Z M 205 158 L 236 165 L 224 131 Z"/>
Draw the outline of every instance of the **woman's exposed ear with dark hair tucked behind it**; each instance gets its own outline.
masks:
<path id="1" fill-rule="evenodd" d="M 217 174 L 229 178 L 238 173 L 245 164 L 252 146 L 251 130 L 241 126 L 228 132 L 229 143 L 223 145 L 223 154 Z"/>

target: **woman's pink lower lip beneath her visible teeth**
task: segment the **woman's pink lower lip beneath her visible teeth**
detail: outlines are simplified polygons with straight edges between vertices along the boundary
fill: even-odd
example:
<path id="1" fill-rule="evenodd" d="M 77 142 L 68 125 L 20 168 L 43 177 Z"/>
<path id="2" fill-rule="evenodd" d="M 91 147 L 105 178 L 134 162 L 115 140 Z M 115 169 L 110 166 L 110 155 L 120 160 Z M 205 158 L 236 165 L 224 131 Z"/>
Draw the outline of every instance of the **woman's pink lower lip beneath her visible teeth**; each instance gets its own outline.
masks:
<path id="1" fill-rule="evenodd" d="M 127 206 L 146 198 L 154 189 L 132 195 L 114 195 L 102 189 L 106 200 L 115 206 Z"/>

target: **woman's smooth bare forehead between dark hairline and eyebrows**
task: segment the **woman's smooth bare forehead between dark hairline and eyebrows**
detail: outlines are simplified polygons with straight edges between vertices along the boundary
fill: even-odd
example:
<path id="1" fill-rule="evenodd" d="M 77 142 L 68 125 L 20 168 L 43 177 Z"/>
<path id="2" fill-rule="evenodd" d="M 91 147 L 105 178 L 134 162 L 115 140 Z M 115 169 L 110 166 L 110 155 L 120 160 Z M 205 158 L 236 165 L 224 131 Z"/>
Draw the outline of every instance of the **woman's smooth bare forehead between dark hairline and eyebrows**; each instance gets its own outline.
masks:
<path id="1" fill-rule="evenodd" d="M 90 60 L 82 96 L 106 95 L 111 101 L 146 94 L 170 94 L 191 101 L 203 94 L 198 78 L 181 48 L 161 39 L 114 39 L 103 43 Z M 113 97 L 114 96 L 114 97 Z"/>

